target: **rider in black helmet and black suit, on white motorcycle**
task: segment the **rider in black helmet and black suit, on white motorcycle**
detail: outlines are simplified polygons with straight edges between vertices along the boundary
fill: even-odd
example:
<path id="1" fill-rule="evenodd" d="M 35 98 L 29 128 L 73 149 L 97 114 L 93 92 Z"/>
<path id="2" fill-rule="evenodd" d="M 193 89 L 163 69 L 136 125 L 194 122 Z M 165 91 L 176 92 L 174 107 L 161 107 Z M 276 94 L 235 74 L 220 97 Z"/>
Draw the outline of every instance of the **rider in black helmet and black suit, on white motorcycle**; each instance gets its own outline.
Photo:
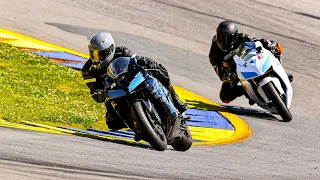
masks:
<path id="1" fill-rule="evenodd" d="M 254 102 L 249 98 L 244 88 L 241 85 L 237 85 L 239 79 L 235 73 L 236 64 L 233 61 L 235 51 L 243 42 L 260 41 L 263 47 L 270 50 L 281 62 L 282 46 L 275 41 L 257 39 L 247 34 L 239 33 L 237 24 L 232 21 L 221 22 L 216 31 L 216 35 L 212 40 L 209 59 L 216 74 L 222 81 L 220 99 L 224 103 L 229 103 L 237 97 L 245 95 L 249 99 L 249 104 L 253 105 Z M 290 82 L 293 81 L 292 75 L 288 75 L 288 78 Z"/>

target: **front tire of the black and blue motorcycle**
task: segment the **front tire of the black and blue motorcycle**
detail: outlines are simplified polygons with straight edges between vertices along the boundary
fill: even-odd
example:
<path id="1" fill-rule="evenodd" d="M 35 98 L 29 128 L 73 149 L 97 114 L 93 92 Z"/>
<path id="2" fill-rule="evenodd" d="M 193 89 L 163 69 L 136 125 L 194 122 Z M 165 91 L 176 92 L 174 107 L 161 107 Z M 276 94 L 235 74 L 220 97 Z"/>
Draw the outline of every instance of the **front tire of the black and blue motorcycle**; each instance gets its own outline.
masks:
<path id="1" fill-rule="evenodd" d="M 158 151 L 167 149 L 167 138 L 161 125 L 155 124 L 148 110 L 146 110 L 141 101 L 135 102 L 131 107 L 131 112 L 135 121 L 142 130 L 142 138 Z"/>

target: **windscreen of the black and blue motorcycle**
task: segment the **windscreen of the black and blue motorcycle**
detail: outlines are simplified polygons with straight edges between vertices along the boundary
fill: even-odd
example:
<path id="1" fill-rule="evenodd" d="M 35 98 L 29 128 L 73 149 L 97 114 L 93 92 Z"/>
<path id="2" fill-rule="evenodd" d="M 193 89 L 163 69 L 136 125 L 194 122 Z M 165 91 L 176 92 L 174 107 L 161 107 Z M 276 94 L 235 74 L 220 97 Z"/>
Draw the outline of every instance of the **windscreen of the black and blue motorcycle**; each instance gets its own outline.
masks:
<path id="1" fill-rule="evenodd" d="M 112 79 L 117 79 L 117 77 L 128 71 L 128 65 L 130 63 L 130 57 L 120 57 L 117 58 L 109 64 L 107 68 L 107 74 Z"/>

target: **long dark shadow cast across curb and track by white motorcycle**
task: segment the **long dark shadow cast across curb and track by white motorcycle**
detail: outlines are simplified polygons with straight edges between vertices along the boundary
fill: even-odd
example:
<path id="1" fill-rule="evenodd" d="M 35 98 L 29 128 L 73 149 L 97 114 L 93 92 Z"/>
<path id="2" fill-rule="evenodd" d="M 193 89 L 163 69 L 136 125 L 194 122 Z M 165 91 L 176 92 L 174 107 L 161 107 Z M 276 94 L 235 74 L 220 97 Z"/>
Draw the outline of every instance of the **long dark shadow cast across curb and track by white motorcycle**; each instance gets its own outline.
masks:
<path id="1" fill-rule="evenodd" d="M 190 108 L 201 109 L 201 110 L 210 110 L 210 111 L 218 111 L 218 112 L 229 112 L 232 114 L 236 114 L 239 116 L 247 116 L 247 117 L 254 117 L 263 120 L 269 121 L 278 121 L 279 119 L 272 115 L 270 112 L 266 110 L 254 109 L 254 108 L 247 108 L 247 107 L 240 107 L 240 106 L 230 106 L 230 105 L 214 105 L 214 104 L 207 104 L 202 101 L 196 100 L 187 100 L 187 104 Z"/>

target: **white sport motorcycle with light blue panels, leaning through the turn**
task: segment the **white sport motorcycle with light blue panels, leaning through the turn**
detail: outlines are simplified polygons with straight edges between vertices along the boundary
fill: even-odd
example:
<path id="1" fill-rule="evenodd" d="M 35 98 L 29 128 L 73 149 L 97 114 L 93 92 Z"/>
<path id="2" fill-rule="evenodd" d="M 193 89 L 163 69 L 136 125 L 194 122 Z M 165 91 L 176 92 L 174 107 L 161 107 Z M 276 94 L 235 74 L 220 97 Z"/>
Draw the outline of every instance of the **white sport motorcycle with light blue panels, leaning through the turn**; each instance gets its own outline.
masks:
<path id="1" fill-rule="evenodd" d="M 290 122 L 293 89 L 280 61 L 259 41 L 242 43 L 233 60 L 249 97 L 261 108 L 279 114 L 282 121 Z"/>

